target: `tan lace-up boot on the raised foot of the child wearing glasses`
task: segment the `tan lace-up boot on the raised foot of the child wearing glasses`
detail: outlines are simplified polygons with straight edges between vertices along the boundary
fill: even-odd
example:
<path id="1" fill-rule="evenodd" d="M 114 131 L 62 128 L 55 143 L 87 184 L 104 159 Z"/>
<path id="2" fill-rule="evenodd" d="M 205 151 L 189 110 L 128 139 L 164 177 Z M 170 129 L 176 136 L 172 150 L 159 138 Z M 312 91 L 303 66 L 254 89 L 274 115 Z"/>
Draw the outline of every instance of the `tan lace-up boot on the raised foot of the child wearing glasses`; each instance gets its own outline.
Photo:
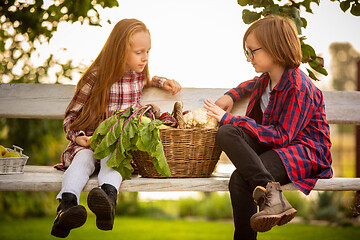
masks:
<path id="1" fill-rule="evenodd" d="M 297 213 L 286 200 L 278 182 L 269 182 L 266 189 L 257 186 L 253 198 L 259 206 L 259 212 L 250 218 L 250 225 L 256 232 L 266 232 L 275 225 L 284 225 Z"/>

